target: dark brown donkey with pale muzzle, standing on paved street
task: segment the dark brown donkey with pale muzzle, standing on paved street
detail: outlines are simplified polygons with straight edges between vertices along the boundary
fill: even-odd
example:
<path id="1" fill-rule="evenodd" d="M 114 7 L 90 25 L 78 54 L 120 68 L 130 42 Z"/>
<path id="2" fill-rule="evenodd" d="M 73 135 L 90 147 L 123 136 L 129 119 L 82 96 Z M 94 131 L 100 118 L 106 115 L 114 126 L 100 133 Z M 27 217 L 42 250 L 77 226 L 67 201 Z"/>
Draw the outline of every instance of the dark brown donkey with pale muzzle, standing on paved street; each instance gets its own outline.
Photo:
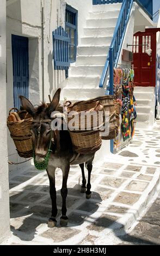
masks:
<path id="1" fill-rule="evenodd" d="M 51 154 L 48 160 L 48 166 L 46 168 L 48 178 L 50 181 L 50 197 L 52 200 L 52 213 L 48 220 L 48 227 L 52 228 L 57 225 L 57 203 L 56 203 L 56 187 L 55 187 L 55 170 L 59 167 L 63 173 L 63 181 L 61 187 L 61 197 L 63 199 L 61 208 L 60 225 L 67 225 L 68 218 L 66 216 L 66 197 L 67 197 L 67 178 L 69 175 L 70 164 L 79 164 L 82 170 L 82 186 L 81 192 L 86 193 L 86 198 L 91 197 L 91 185 L 90 175 L 93 168 L 93 160 L 95 154 L 77 155 L 73 151 L 73 145 L 69 131 L 55 130 L 52 132 L 51 113 L 55 111 L 58 106 L 60 98 L 59 88 L 54 94 L 53 99 L 46 107 L 45 103 L 42 103 L 38 108 L 34 108 L 32 103 L 24 96 L 20 96 L 21 105 L 30 115 L 33 117 L 33 123 L 31 126 L 31 133 L 33 138 L 33 147 L 35 160 L 42 162 L 48 152 L 50 145 Z M 52 137 L 52 138 L 51 138 Z M 88 169 L 88 183 L 85 180 L 84 163 Z M 87 187 L 86 187 L 87 183 Z"/>

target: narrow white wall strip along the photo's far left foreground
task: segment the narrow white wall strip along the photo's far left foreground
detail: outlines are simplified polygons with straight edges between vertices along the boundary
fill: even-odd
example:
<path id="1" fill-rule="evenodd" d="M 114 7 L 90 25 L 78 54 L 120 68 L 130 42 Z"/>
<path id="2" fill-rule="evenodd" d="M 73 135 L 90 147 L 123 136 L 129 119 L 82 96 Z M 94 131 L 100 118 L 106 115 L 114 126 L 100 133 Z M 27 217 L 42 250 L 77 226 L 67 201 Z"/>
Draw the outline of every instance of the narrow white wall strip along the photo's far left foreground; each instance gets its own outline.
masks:
<path id="1" fill-rule="evenodd" d="M 6 126 L 6 2 L 0 0 L 0 243 L 10 235 L 9 221 L 9 183 L 8 183 L 8 152 L 7 152 L 7 126 Z"/>

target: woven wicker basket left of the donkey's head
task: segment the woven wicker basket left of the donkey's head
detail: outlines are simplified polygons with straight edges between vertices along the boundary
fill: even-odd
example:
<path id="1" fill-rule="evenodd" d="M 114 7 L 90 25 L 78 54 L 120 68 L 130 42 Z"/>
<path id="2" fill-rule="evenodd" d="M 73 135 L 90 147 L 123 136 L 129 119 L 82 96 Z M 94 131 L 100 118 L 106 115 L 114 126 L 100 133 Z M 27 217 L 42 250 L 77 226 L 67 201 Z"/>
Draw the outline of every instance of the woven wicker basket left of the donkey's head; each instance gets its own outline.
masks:
<path id="1" fill-rule="evenodd" d="M 13 138 L 19 156 L 24 158 L 32 157 L 32 135 L 30 133 L 32 117 L 30 117 L 26 111 L 19 111 L 17 108 L 11 108 L 9 115 L 11 114 L 12 110 L 17 111 L 21 121 L 13 122 L 7 119 L 7 126 L 10 131 L 10 137 Z"/>

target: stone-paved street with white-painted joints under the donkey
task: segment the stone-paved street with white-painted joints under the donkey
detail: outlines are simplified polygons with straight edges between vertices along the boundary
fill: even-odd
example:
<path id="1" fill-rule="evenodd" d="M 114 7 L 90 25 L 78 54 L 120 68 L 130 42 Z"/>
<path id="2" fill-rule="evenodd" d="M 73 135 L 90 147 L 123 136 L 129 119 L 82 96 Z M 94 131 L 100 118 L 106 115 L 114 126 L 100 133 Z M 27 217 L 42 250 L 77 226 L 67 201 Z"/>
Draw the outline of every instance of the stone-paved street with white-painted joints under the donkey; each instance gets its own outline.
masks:
<path id="1" fill-rule="evenodd" d="M 72 166 L 67 182 L 67 227 L 60 227 L 61 170 L 56 171 L 58 225 L 48 228 L 51 214 L 46 171 L 32 166 L 10 175 L 9 244 L 113 245 L 126 241 L 126 231 L 145 214 L 157 197 L 160 167 L 160 126 L 138 131 L 119 154 L 94 163 L 91 199 L 80 193 L 81 169 Z M 156 227 L 155 227 L 156 229 Z M 140 230 L 140 231 L 139 231 Z M 137 232 L 141 232 L 138 226 Z M 131 233 L 134 237 L 135 233 Z M 127 240 L 128 241 L 128 240 Z M 156 240 L 157 241 L 157 240 Z M 138 243 L 145 243 L 139 237 Z"/>

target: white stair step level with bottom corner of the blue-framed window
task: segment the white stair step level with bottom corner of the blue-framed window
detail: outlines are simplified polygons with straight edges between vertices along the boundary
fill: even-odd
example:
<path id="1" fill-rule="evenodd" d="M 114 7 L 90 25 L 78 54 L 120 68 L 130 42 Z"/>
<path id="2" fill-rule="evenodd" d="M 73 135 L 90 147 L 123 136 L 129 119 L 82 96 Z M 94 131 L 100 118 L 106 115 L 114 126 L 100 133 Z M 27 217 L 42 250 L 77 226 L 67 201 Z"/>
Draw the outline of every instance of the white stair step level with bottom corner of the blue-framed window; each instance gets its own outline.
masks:
<path id="1" fill-rule="evenodd" d="M 104 65 L 106 62 L 106 55 L 93 56 L 78 56 L 76 60 L 77 65 Z"/>

